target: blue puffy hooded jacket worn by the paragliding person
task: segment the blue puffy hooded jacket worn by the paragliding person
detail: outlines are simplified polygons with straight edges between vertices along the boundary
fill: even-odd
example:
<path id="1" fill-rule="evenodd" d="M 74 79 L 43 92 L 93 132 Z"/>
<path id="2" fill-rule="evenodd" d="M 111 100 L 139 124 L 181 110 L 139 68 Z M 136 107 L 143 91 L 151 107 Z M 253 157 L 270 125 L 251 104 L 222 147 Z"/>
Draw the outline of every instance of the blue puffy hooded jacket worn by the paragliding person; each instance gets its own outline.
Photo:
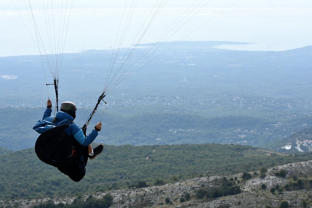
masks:
<path id="1" fill-rule="evenodd" d="M 35 131 L 38 133 L 43 133 L 46 130 L 53 128 L 55 126 L 59 126 L 62 124 L 69 124 L 70 126 L 65 129 L 65 133 L 69 136 L 74 136 L 74 138 L 82 145 L 82 146 L 88 146 L 91 144 L 96 136 L 98 135 L 98 132 L 93 129 L 88 136 L 85 137 L 85 135 L 82 132 L 82 129 L 76 124 L 73 123 L 72 120 L 74 118 L 63 112 L 59 111 L 56 113 L 56 116 L 51 116 L 52 109 L 46 108 L 46 111 L 43 114 L 42 120 L 39 120 L 36 125 L 33 127 Z M 52 123 L 51 121 L 54 118 L 57 118 L 56 123 Z"/>

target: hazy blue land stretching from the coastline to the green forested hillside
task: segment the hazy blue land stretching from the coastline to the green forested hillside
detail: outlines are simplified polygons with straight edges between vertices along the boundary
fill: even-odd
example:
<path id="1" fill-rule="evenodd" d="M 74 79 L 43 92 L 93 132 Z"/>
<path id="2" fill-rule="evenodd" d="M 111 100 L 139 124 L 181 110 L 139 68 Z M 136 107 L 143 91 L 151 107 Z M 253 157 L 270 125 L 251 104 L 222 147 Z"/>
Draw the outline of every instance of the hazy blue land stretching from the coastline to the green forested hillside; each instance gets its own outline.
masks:
<path id="1" fill-rule="evenodd" d="M 247 43 L 181 41 L 151 56 L 105 97 L 105 110 L 101 104 L 88 128 L 105 123 L 96 142 L 234 143 L 275 150 L 312 126 L 311 46 L 236 51 L 214 47 L 219 44 Z M 120 49 L 118 61 L 127 50 Z M 90 50 L 63 56 L 59 102 L 77 104 L 80 126 L 102 92 L 111 55 L 112 50 Z M 39 56 L 0 57 L 0 65 L 0 146 L 32 148 L 38 137 L 32 126 L 42 118 L 48 97 L 55 105 L 54 88 L 46 86 L 51 74 L 46 72 L 45 82 Z"/>

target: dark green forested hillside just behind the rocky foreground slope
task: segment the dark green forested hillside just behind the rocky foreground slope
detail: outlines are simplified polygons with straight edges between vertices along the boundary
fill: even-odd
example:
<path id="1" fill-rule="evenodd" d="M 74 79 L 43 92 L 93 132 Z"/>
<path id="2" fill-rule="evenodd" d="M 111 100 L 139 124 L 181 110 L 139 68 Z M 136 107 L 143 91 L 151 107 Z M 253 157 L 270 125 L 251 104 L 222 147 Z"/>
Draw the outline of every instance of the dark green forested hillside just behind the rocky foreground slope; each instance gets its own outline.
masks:
<path id="1" fill-rule="evenodd" d="M 311 158 L 311 153 L 285 155 L 233 144 L 108 145 L 88 162 L 85 177 L 75 183 L 41 162 L 30 148 L 0 155 L 0 198 L 53 198 L 162 185 L 193 177 L 253 172 Z"/>

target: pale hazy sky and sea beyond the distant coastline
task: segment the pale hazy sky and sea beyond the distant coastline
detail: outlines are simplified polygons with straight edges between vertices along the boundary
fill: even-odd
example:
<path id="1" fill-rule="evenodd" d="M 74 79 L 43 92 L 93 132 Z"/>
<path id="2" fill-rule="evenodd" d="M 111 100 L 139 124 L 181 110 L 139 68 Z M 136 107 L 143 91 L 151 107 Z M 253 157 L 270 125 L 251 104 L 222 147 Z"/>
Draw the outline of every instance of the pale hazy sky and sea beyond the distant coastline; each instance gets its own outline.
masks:
<path id="1" fill-rule="evenodd" d="M 51 32 L 54 34 L 52 42 L 57 42 L 55 45 L 60 48 L 60 51 L 67 53 L 118 47 L 126 17 L 132 14 L 120 44 L 121 47 L 128 47 L 136 43 L 138 37 L 143 34 L 143 30 L 140 30 L 141 26 L 146 28 L 151 18 L 148 16 L 149 12 L 152 11 L 153 14 L 156 11 L 152 9 L 153 5 L 155 3 L 158 5 L 162 1 L 74 0 L 71 12 L 68 6 L 65 16 L 64 5 L 67 1 L 53 0 L 52 14 L 49 0 L 44 1 L 50 2 L 48 3 L 49 16 L 45 16 L 46 6 L 43 6 L 43 1 L 30 0 L 39 31 L 37 36 L 31 18 L 27 14 L 31 10 L 29 7 L 26 9 L 24 2 L 27 4 L 25 0 L 0 1 L 0 56 L 42 53 L 42 46 L 37 46 L 36 37 L 39 34 L 45 49 L 49 48 L 49 29 L 46 27 L 49 24 L 46 22 L 49 20 L 53 22 L 52 15 L 55 26 L 55 32 L 53 33 L 53 29 Z M 135 2 L 137 2 L 135 8 L 131 7 Z M 68 1 L 68 5 L 70 4 L 71 1 Z M 62 23 L 68 21 L 68 14 L 70 18 L 67 27 L 67 24 Z M 46 21 L 46 17 L 49 20 Z M 251 44 L 220 47 L 236 50 L 283 51 L 312 45 L 311 19 L 311 0 L 188 0 L 183 2 L 168 0 L 144 33 L 140 43 L 180 40 L 235 41 Z M 62 30 L 63 25 L 65 30 Z M 58 32 L 66 29 L 67 32 Z M 53 48 L 54 45 L 51 45 Z"/>

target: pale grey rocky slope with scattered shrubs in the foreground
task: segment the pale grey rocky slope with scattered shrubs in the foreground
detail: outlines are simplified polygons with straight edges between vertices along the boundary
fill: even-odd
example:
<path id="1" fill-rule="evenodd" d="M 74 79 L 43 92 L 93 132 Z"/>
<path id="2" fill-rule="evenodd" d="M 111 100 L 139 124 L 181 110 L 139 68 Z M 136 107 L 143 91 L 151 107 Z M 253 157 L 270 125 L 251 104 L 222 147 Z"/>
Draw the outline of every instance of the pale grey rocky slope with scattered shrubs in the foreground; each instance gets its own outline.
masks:
<path id="1" fill-rule="evenodd" d="M 288 174 L 286 177 L 275 176 L 275 173 L 285 170 Z M 271 207 L 279 207 L 280 202 L 283 200 L 288 201 L 292 207 L 301 207 L 300 204 L 303 200 L 306 200 L 309 204 L 312 198 L 312 190 L 310 186 L 303 188 L 296 188 L 292 190 L 286 190 L 284 187 L 287 184 L 295 183 L 295 178 L 302 178 L 305 181 L 309 181 L 312 175 L 312 160 L 299 163 L 291 163 L 282 166 L 271 167 L 266 171 L 264 178 L 260 177 L 260 172 L 254 175 L 251 173 L 252 178 L 249 180 L 242 180 L 242 173 L 237 175 L 228 176 L 212 176 L 212 177 L 198 177 L 182 181 L 177 181 L 171 184 L 165 184 L 162 186 L 149 186 L 144 188 L 129 188 L 120 190 L 111 190 L 105 192 L 98 192 L 93 197 L 101 198 L 105 194 L 110 194 L 114 197 L 114 208 L 124 207 L 194 207 L 194 208 L 248 208 L 248 207 L 261 207 L 264 208 L 266 205 Z M 239 186 L 241 187 L 241 193 L 232 196 L 223 196 L 217 199 L 208 199 L 203 197 L 197 199 L 195 197 L 196 191 L 201 188 L 207 188 L 217 186 L 218 181 L 222 180 L 223 177 L 235 178 L 241 180 Z M 265 184 L 266 189 L 261 189 L 261 185 Z M 283 190 L 275 191 L 271 193 L 271 188 L 281 187 Z M 191 198 L 188 201 L 181 202 L 180 198 L 185 193 L 189 193 Z M 82 196 L 86 199 L 89 196 Z M 166 198 L 170 202 L 166 203 Z M 31 207 L 35 204 L 39 204 L 49 199 L 41 200 L 15 200 L 15 201 L 0 201 L 0 206 L 15 206 L 15 207 Z M 54 203 L 71 203 L 74 200 L 72 197 L 55 198 Z"/>

